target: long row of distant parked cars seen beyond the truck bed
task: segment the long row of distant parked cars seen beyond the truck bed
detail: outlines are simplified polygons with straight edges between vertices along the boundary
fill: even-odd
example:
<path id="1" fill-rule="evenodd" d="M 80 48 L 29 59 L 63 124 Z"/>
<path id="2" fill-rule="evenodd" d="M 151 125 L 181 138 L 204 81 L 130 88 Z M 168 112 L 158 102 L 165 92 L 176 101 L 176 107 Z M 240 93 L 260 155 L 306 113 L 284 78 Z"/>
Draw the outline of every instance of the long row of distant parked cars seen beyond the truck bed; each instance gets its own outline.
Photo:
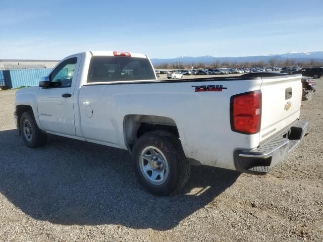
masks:
<path id="1" fill-rule="evenodd" d="M 224 75 L 243 74 L 250 72 L 280 71 L 281 67 L 254 67 L 254 68 L 218 68 L 218 69 L 192 69 L 192 70 L 155 70 L 156 74 L 167 74 L 167 78 L 183 78 L 184 75 Z"/>

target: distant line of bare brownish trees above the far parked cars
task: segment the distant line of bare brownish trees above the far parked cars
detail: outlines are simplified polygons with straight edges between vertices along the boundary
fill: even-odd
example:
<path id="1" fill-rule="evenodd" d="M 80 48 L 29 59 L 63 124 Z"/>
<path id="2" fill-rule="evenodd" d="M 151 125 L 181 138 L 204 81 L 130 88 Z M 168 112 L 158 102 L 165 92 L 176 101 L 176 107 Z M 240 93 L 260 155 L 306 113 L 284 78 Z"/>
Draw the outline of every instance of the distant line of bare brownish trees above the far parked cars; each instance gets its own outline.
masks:
<path id="1" fill-rule="evenodd" d="M 220 62 L 214 61 L 212 64 L 205 64 L 203 62 L 185 64 L 181 61 L 174 63 L 161 63 L 160 65 L 154 66 L 155 69 L 217 69 L 217 68 L 251 68 L 251 67 L 319 67 L 323 66 L 323 63 L 317 62 L 315 59 L 311 59 L 309 62 L 296 61 L 296 59 L 285 59 L 284 61 L 278 60 L 273 57 L 268 62 Z"/>

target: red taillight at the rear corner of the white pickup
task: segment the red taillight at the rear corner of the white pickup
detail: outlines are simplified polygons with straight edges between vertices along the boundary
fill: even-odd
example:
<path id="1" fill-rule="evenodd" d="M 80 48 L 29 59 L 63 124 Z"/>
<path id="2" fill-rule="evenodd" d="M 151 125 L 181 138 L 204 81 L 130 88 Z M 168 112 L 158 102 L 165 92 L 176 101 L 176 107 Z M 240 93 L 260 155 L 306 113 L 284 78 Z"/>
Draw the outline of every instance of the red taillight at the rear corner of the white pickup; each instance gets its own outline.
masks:
<path id="1" fill-rule="evenodd" d="M 242 134 L 256 134 L 261 123 L 261 91 L 234 95 L 230 101 L 231 129 Z"/>

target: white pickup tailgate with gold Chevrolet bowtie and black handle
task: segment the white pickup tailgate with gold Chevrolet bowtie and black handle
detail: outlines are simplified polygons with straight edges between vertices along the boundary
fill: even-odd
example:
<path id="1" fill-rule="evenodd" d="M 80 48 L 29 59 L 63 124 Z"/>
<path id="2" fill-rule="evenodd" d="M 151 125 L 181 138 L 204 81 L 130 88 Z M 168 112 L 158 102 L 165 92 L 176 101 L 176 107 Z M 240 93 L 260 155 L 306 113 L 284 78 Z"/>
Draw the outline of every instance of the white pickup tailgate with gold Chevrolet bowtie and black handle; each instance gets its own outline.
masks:
<path id="1" fill-rule="evenodd" d="M 301 75 L 262 78 L 259 143 L 284 130 L 299 118 L 302 99 Z"/>

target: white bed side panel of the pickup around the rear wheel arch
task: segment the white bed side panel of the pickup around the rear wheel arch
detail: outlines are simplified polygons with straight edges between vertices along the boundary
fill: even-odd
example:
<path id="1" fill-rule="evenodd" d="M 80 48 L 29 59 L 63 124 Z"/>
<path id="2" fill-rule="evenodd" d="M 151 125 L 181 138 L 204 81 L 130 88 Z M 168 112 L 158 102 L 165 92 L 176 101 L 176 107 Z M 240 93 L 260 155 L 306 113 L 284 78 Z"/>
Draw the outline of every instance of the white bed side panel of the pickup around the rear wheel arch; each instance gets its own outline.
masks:
<path id="1" fill-rule="evenodd" d="M 83 75 L 83 74 L 82 74 Z M 258 90 L 261 79 L 87 85 L 79 95 L 80 127 L 86 139 L 127 149 L 127 115 L 167 117 L 177 125 L 185 155 L 202 164 L 235 169 L 236 148 L 253 149 L 259 135 L 231 131 L 230 97 Z M 223 85 L 222 92 L 195 92 L 194 85 Z M 91 105 L 88 118 L 85 106 Z"/>

